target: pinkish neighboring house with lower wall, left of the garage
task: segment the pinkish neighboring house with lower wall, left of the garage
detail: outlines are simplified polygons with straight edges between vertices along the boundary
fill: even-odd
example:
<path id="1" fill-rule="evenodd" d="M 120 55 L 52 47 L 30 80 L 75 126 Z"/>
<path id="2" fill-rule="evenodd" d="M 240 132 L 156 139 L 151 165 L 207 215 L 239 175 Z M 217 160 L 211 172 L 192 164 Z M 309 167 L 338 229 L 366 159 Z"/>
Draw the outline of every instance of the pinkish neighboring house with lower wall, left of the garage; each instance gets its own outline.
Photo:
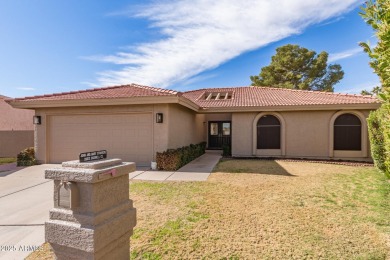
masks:
<path id="1" fill-rule="evenodd" d="M 34 146 L 33 110 L 16 109 L 0 95 L 0 157 L 16 157 L 27 147 Z"/>

